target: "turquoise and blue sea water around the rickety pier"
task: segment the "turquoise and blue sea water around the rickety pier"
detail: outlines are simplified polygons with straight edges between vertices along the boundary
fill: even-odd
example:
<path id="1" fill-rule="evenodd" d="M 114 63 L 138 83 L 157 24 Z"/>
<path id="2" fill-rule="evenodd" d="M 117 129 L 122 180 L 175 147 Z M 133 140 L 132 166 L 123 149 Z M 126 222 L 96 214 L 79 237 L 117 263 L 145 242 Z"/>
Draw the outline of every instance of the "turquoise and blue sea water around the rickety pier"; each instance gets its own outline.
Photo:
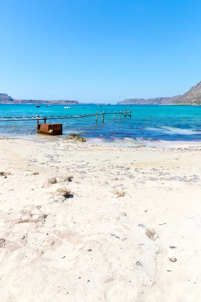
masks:
<path id="1" fill-rule="evenodd" d="M 0 105 L 0 116 L 61 116 L 79 115 L 99 112 L 124 111 L 126 106 L 102 105 Z M 85 109 L 83 109 L 85 106 Z M 127 110 L 130 110 L 127 106 Z M 47 121 L 51 122 L 51 121 Z M 98 116 L 66 120 L 52 120 L 53 123 L 63 123 L 63 132 L 80 133 L 86 138 L 101 138 L 107 141 L 131 138 L 137 141 L 200 141 L 201 140 L 201 106 L 151 106 L 133 105 L 132 117 L 121 120 L 119 116 L 105 115 L 105 122 Z M 0 137 L 29 135 L 37 126 L 36 121 L 0 122 Z M 36 132 L 35 132 L 36 133 Z M 37 134 L 35 134 L 37 135 Z"/>

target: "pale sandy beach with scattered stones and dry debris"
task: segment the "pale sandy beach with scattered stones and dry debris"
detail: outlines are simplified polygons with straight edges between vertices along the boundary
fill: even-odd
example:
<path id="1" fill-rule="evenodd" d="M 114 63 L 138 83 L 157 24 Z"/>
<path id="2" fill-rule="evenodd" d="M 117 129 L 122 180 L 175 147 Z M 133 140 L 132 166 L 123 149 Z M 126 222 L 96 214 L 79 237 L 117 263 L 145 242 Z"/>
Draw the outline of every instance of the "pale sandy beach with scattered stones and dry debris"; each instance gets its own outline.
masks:
<path id="1" fill-rule="evenodd" d="M 44 136 L 0 153 L 2 302 L 200 301 L 200 146 Z"/>

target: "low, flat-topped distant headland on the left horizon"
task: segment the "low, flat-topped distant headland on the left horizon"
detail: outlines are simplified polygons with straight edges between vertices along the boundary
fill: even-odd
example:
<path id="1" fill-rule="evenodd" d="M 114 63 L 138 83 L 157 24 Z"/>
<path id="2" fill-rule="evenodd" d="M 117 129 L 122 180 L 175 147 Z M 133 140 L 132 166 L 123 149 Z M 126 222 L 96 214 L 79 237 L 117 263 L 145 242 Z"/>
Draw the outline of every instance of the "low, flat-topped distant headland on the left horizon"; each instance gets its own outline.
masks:
<path id="1" fill-rule="evenodd" d="M 12 99 L 8 94 L 0 93 L 0 104 L 61 104 L 61 105 L 78 105 L 77 101 L 70 100 L 55 100 L 55 101 L 44 101 L 44 100 L 16 100 Z"/>

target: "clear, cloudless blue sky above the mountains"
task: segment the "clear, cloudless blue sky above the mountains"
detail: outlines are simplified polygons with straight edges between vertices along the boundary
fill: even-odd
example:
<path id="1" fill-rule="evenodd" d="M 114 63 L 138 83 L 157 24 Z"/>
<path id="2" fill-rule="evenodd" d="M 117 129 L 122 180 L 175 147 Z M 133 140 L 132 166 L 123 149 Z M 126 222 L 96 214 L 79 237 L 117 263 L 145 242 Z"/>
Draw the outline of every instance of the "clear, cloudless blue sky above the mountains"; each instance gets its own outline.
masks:
<path id="1" fill-rule="evenodd" d="M 0 93 L 116 103 L 201 81 L 200 0 L 0 0 Z"/>

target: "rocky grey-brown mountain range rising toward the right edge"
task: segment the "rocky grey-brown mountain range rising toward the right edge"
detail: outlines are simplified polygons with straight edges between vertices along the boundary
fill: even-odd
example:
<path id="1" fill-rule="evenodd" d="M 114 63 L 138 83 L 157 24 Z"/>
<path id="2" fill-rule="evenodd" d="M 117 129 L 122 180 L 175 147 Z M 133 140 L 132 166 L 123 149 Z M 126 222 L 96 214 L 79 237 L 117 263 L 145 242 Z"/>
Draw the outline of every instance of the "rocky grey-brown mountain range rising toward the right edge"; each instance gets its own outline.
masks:
<path id="1" fill-rule="evenodd" d="M 201 82 L 183 95 L 152 99 L 125 99 L 117 105 L 201 105 Z"/>

